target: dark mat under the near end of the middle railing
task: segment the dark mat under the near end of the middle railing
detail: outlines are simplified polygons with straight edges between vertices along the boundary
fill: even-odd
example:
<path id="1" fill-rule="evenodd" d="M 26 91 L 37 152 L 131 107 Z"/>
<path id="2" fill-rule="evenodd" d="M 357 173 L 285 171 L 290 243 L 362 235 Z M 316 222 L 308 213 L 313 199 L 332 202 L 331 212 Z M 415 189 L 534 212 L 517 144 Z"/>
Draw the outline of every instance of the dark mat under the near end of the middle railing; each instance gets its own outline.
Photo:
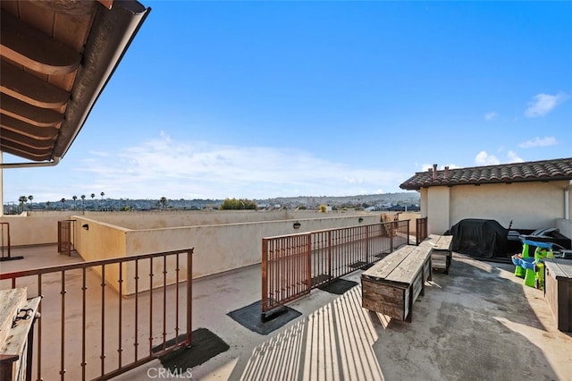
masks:
<path id="1" fill-rule="evenodd" d="M 264 318 L 262 315 L 262 301 L 255 301 L 249 306 L 235 309 L 227 315 L 257 334 L 270 334 L 291 320 L 298 318 L 302 313 L 296 309 L 284 306 Z"/>

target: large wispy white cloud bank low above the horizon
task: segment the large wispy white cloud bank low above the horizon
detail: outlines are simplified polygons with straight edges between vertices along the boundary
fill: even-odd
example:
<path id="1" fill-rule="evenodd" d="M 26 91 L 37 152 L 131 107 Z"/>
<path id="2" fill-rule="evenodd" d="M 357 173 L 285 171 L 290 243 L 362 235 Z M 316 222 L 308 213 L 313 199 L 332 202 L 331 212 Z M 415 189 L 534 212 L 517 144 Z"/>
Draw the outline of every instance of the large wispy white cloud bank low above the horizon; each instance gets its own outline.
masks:
<path id="1" fill-rule="evenodd" d="M 393 189 L 411 173 L 355 168 L 291 148 L 234 147 L 161 137 L 102 159 L 80 171 L 86 189 L 112 198 L 265 199 L 323 194 L 344 196 Z M 397 191 L 397 190 L 392 190 Z"/>

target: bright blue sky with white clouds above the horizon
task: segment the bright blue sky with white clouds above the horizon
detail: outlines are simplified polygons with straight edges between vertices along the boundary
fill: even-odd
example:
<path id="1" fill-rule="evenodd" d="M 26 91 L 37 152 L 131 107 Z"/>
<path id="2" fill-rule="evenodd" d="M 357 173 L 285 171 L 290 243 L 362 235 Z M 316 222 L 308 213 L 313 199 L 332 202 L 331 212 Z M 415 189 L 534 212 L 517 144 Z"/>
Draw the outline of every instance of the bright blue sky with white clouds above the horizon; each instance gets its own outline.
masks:
<path id="1" fill-rule="evenodd" d="M 4 202 L 386 193 L 572 156 L 572 2 L 141 3 L 62 162 L 4 170 Z"/>

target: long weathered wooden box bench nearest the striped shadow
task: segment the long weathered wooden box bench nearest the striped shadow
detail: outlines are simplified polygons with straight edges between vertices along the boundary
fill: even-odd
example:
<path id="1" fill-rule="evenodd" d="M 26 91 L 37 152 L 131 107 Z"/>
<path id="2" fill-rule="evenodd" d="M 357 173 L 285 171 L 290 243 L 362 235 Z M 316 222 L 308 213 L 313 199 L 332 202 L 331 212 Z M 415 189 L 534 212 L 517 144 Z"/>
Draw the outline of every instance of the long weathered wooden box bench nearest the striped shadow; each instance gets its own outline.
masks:
<path id="1" fill-rule="evenodd" d="M 411 322 L 413 302 L 431 279 L 431 247 L 403 246 L 361 275 L 362 307 Z"/>

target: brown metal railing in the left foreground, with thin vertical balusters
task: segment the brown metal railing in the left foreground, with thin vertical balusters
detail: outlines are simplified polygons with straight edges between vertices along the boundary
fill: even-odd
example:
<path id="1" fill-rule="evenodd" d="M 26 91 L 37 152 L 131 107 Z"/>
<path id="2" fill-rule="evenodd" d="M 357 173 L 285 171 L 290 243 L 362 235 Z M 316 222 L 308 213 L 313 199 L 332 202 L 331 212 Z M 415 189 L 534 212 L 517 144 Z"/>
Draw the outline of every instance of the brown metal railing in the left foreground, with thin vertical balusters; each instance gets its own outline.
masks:
<path id="1" fill-rule="evenodd" d="M 109 379 L 188 346 L 192 253 L 158 252 L 0 274 L 2 288 L 26 287 L 29 298 L 42 297 L 34 332 L 37 379 Z"/>

